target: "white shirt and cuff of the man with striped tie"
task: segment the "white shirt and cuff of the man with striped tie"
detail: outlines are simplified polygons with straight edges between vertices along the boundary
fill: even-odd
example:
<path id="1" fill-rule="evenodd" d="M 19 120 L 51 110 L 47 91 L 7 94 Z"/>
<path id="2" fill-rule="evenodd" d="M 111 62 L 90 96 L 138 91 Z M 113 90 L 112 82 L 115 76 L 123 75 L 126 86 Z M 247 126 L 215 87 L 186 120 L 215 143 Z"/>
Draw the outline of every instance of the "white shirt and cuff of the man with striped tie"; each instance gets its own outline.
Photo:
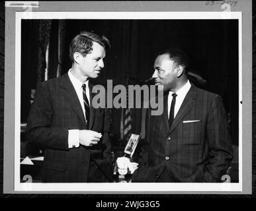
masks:
<path id="1" fill-rule="evenodd" d="M 77 78 L 75 78 L 75 76 L 73 76 L 73 74 L 71 73 L 71 69 L 69 69 L 67 75 L 69 76 L 69 79 L 71 80 L 71 83 L 75 88 L 75 92 L 77 93 L 77 97 L 83 109 L 83 115 L 85 116 L 85 106 L 83 103 L 83 88 L 82 88 L 83 83 Z M 86 84 L 85 93 L 90 104 L 90 92 L 89 92 L 89 86 L 88 86 L 89 80 L 87 80 L 85 84 Z M 85 116 L 85 121 L 87 121 L 86 116 Z M 69 148 L 75 148 L 79 146 L 79 130 L 78 129 L 68 131 L 68 146 Z"/>

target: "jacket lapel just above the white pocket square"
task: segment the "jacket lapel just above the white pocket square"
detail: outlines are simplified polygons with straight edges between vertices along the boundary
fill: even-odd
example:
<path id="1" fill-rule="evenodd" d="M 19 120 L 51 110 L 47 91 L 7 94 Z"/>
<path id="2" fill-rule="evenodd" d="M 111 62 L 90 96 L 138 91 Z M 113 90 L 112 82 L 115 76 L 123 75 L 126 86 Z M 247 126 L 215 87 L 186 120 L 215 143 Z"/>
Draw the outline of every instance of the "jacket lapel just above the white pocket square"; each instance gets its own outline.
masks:
<path id="1" fill-rule="evenodd" d="M 173 124 L 171 125 L 169 133 L 171 133 L 175 129 L 175 127 L 178 125 L 181 119 L 186 115 L 189 109 L 191 109 L 192 105 L 194 105 L 195 99 L 196 99 L 196 87 L 191 84 L 191 88 L 189 92 L 187 93 L 185 99 L 183 100 L 183 103 L 181 104 L 181 107 L 176 117 L 173 119 Z"/>

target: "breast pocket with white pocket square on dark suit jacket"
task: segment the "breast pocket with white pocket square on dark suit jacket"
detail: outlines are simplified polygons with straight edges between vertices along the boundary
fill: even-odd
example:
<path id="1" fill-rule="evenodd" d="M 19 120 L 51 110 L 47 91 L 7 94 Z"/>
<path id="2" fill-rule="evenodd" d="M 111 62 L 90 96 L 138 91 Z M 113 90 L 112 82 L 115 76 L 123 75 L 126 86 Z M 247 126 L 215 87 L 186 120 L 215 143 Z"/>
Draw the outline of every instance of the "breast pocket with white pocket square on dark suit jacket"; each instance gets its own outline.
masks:
<path id="1" fill-rule="evenodd" d="M 181 130 L 182 143 L 184 145 L 201 144 L 202 122 L 201 121 L 183 121 Z"/>

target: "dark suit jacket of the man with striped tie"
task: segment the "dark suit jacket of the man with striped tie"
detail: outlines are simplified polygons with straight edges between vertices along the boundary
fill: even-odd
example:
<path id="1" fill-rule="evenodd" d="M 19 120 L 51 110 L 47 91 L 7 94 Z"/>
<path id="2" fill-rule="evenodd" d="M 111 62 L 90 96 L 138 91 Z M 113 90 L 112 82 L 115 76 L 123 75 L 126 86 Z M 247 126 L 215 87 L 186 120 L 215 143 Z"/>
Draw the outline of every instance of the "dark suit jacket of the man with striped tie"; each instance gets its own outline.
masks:
<path id="1" fill-rule="evenodd" d="M 90 100 L 93 95 L 90 87 Z M 67 74 L 38 84 L 27 123 L 29 142 L 44 148 L 43 182 L 87 182 L 89 164 L 112 177 L 110 111 L 90 108 L 89 130 L 102 133 L 96 146 L 68 148 L 69 129 L 88 129 L 81 104 Z"/>

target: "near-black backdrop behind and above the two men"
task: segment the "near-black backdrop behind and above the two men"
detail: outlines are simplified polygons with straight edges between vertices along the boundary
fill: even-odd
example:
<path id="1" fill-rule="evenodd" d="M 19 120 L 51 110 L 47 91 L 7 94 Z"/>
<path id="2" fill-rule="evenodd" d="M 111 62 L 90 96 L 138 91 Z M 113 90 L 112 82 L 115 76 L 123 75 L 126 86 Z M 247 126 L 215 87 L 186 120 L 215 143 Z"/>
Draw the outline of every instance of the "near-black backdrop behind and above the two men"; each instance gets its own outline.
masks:
<path id="1" fill-rule="evenodd" d="M 191 58 L 189 71 L 207 82 L 196 85 L 222 96 L 230 114 L 232 140 L 238 144 L 238 20 L 22 20 L 22 122 L 26 122 L 30 109 L 30 90 L 44 80 L 40 67 L 46 42 L 50 43 L 48 75 L 55 78 L 58 61 L 61 75 L 71 67 L 69 43 L 83 30 L 104 34 L 112 45 L 105 68 L 99 78 L 91 80 L 93 84 L 105 85 L 112 79 L 113 84 L 125 85 L 126 75 L 146 80 L 153 74 L 156 53 L 167 47 L 184 49 Z M 62 58 L 58 58 L 58 44 L 62 45 Z M 130 79 L 129 84 L 138 82 Z M 132 110 L 132 120 L 132 132 L 140 133 L 140 109 Z M 119 128 L 120 110 L 113 109 L 113 141 L 120 137 Z"/>

